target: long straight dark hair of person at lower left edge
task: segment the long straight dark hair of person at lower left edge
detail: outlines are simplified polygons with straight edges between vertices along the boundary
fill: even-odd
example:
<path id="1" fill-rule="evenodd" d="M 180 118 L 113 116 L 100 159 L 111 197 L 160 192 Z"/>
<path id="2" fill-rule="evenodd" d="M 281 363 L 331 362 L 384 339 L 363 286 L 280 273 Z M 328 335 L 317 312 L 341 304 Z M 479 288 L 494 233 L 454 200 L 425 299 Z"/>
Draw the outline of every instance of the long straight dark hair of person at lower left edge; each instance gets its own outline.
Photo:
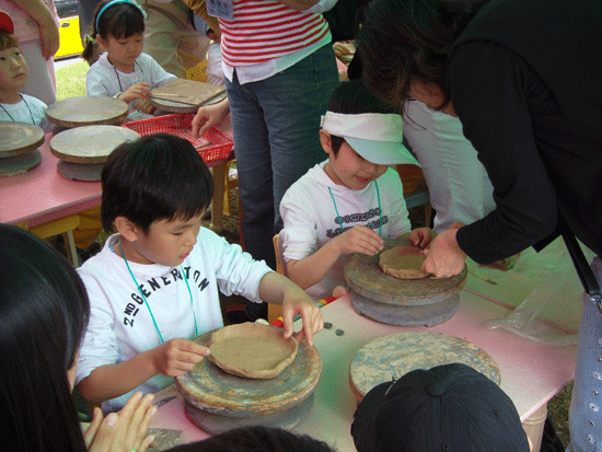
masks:
<path id="1" fill-rule="evenodd" d="M 90 304 L 69 263 L 0 224 L 0 436 L 11 451 L 86 451 L 67 370 Z"/>

